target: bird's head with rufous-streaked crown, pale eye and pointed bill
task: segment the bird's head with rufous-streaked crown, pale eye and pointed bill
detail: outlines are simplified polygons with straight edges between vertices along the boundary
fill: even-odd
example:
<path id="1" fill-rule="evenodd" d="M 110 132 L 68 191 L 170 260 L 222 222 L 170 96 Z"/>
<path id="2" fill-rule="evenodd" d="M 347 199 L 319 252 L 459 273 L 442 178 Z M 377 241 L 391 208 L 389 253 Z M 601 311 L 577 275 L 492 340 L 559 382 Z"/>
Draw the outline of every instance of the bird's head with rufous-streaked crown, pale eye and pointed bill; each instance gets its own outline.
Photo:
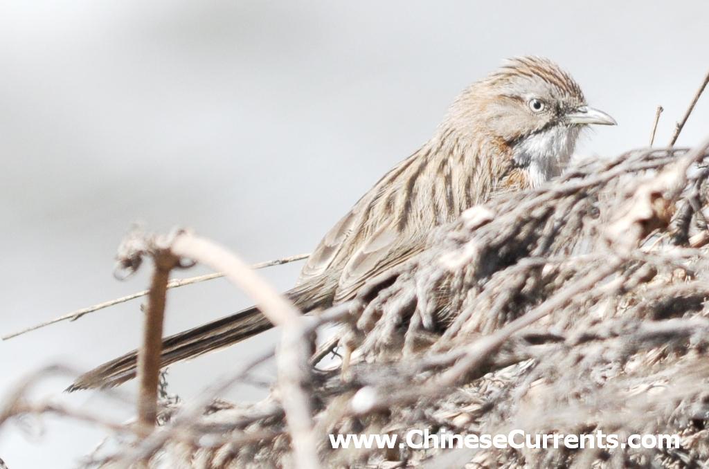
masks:
<path id="1" fill-rule="evenodd" d="M 506 145 L 538 185 L 563 169 L 581 129 L 615 120 L 588 106 L 579 84 L 554 62 L 518 57 L 464 91 L 450 123 Z"/>

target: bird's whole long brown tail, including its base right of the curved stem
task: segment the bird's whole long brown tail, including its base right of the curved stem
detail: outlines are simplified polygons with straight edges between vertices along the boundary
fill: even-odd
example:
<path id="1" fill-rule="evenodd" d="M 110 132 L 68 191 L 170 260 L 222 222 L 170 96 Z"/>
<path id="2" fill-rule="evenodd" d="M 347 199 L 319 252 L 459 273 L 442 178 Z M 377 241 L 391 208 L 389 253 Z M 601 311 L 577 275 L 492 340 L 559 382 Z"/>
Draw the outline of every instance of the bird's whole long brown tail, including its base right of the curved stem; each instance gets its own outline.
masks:
<path id="1" fill-rule="evenodd" d="M 331 278 L 325 276 L 313 278 L 312 281 L 289 290 L 286 296 L 303 312 L 311 311 L 317 307 L 327 307 L 332 303 L 333 286 L 331 283 Z M 254 306 L 194 329 L 174 334 L 162 341 L 160 368 L 236 344 L 272 327 L 273 324 Z M 135 378 L 137 366 L 138 351 L 133 350 L 79 376 L 74 384 L 67 388 L 67 391 L 112 388 Z"/>

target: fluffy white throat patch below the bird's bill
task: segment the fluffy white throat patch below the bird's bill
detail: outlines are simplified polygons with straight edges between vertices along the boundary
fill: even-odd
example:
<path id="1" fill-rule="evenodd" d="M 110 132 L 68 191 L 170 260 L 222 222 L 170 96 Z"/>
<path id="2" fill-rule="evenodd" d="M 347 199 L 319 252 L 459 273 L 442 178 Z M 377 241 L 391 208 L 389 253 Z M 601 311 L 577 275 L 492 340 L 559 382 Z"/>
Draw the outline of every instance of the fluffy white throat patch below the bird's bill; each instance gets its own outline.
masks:
<path id="1" fill-rule="evenodd" d="M 525 138 L 515 147 L 515 163 L 526 166 L 532 187 L 539 187 L 564 171 L 574 153 L 579 126 L 554 125 Z"/>

